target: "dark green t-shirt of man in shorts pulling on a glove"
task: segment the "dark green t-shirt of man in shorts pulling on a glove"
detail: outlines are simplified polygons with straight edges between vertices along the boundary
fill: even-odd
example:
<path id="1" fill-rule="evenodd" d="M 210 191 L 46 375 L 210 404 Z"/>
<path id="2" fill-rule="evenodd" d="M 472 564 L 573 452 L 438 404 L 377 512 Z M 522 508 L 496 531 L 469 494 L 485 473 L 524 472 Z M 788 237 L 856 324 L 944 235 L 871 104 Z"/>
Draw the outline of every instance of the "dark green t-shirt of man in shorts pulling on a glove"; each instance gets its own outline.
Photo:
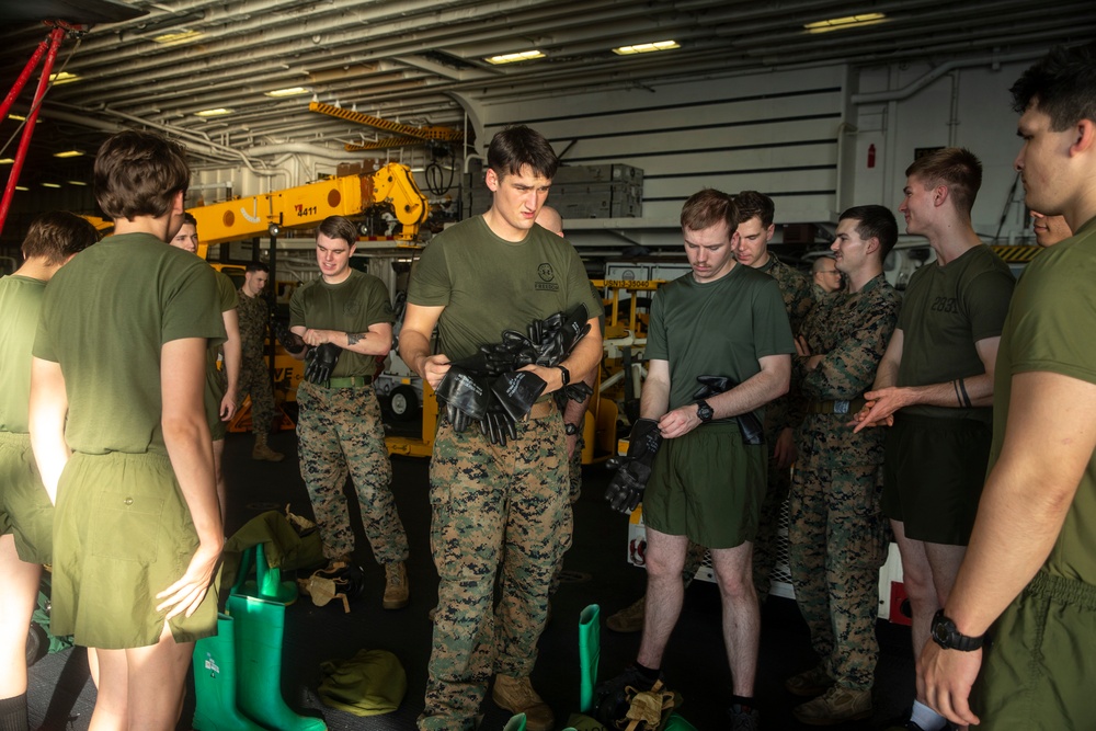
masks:
<path id="1" fill-rule="evenodd" d="M 693 402 L 697 376 L 742 384 L 761 372 L 758 358 L 795 352 L 780 287 L 757 270 L 737 264 L 704 283 L 690 273 L 654 293 L 647 357 L 670 364 L 671 410 Z"/>

